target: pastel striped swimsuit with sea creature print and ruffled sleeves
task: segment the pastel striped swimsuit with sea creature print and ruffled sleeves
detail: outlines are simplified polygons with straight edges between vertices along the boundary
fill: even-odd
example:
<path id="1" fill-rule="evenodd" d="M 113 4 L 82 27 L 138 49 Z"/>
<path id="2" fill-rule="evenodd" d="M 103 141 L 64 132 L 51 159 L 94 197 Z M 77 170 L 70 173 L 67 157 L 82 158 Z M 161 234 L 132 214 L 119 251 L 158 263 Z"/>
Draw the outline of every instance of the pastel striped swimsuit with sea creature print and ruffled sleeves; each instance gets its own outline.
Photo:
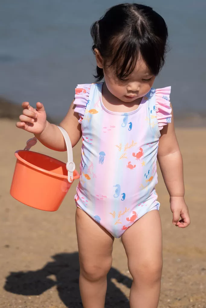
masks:
<path id="1" fill-rule="evenodd" d="M 152 88 L 136 110 L 122 113 L 103 105 L 102 85 L 75 89 L 82 128 L 75 201 L 118 238 L 145 213 L 159 209 L 156 163 L 160 130 L 171 122 L 171 87 Z"/>

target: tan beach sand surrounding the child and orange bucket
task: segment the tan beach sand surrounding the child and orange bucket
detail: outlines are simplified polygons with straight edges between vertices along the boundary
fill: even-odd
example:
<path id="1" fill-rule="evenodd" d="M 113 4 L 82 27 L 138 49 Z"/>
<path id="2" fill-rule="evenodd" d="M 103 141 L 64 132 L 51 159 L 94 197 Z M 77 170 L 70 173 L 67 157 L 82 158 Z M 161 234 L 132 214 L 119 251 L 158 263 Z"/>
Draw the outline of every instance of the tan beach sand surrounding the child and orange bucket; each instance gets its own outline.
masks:
<path id="1" fill-rule="evenodd" d="M 15 150 L 31 135 L 15 128 L 12 120 L 0 120 L 0 307 L 78 308 L 78 253 L 75 233 L 73 184 L 57 212 L 32 209 L 9 194 L 15 166 Z M 206 129 L 176 129 L 184 160 L 186 201 L 191 225 L 172 225 L 169 197 L 159 172 L 157 191 L 163 228 L 162 290 L 159 308 L 206 308 Z M 65 153 L 44 148 L 35 151 L 66 160 Z M 80 144 L 74 148 L 80 161 Z M 41 187 L 34 187 L 40 192 Z M 128 308 L 131 276 L 120 239 L 114 242 L 113 267 L 108 275 L 106 307 Z"/>

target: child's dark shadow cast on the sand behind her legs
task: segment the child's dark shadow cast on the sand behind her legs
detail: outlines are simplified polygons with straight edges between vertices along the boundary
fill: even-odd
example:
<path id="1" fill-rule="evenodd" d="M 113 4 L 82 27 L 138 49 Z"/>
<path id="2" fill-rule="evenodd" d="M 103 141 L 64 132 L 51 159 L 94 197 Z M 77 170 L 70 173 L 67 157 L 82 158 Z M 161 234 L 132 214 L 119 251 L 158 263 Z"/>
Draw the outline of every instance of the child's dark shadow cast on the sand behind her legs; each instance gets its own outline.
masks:
<path id="1" fill-rule="evenodd" d="M 4 289 L 15 294 L 40 295 L 56 285 L 59 297 L 66 307 L 82 307 L 78 286 L 78 253 L 59 253 L 54 255 L 53 259 L 53 262 L 48 262 L 41 270 L 11 272 L 6 278 Z M 54 275 L 56 281 L 49 278 L 50 275 Z M 108 282 L 105 307 L 129 307 L 128 299 L 111 281 L 112 278 L 128 288 L 130 288 L 132 284 L 130 278 L 124 276 L 112 267 L 107 276 Z"/>

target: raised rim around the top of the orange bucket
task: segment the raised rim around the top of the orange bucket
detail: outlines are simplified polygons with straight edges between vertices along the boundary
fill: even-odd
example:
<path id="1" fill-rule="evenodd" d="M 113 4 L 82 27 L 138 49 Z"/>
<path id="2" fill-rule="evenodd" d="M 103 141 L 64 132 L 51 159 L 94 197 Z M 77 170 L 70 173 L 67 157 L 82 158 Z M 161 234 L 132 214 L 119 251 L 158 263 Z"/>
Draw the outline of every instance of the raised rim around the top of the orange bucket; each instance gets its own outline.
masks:
<path id="1" fill-rule="evenodd" d="M 23 159 L 21 156 L 19 156 L 19 152 L 37 153 L 37 154 L 40 154 L 40 155 L 43 155 L 43 156 L 47 156 L 47 157 L 49 157 L 49 158 L 52 158 L 52 159 L 54 159 L 54 160 L 57 160 L 57 161 L 59 161 L 59 162 L 62 163 L 62 164 L 66 164 L 66 163 L 64 163 L 63 161 L 58 160 L 58 159 L 56 159 L 56 158 L 53 158 L 53 157 L 51 157 L 51 156 L 42 154 L 42 153 L 34 152 L 34 151 L 17 150 L 17 151 L 14 153 L 15 157 L 16 157 L 18 160 L 20 160 L 22 163 L 28 165 L 29 167 L 31 167 L 31 168 L 33 168 L 33 169 L 36 169 L 36 170 L 38 170 L 38 171 L 47 173 L 47 174 L 49 174 L 49 175 L 56 176 L 56 177 L 59 177 L 59 178 L 67 179 L 67 180 L 68 180 L 68 176 L 66 176 L 66 175 L 57 174 L 57 173 L 55 173 L 55 172 L 51 172 L 51 171 L 45 170 L 45 169 L 43 169 L 43 168 L 39 168 L 39 167 L 35 166 L 34 164 L 29 163 L 27 160 L 25 160 L 25 159 Z M 79 179 L 80 175 L 79 175 L 79 172 L 78 172 L 76 169 L 75 169 L 74 171 L 76 171 L 77 175 L 75 175 L 75 176 L 73 177 L 73 180 L 77 180 L 77 179 Z"/>

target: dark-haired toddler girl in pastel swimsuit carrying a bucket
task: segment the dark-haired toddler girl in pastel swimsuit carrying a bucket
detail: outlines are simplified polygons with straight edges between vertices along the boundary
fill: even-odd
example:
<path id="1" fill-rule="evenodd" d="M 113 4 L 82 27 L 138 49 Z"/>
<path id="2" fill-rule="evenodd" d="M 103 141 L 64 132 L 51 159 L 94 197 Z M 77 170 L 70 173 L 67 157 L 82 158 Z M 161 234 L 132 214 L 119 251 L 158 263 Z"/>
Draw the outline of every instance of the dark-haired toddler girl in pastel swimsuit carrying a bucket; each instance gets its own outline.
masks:
<path id="1" fill-rule="evenodd" d="M 82 139 L 75 196 L 82 303 L 84 308 L 104 307 L 112 245 L 114 237 L 121 237 L 133 278 L 130 307 L 157 308 L 162 273 L 157 158 L 172 222 L 179 228 L 190 224 L 170 87 L 152 88 L 165 62 L 167 26 L 149 6 L 126 3 L 96 21 L 91 36 L 98 83 L 76 87 L 60 124 L 72 146 Z M 22 106 L 16 126 L 46 147 L 65 151 L 63 136 L 46 121 L 43 104 Z"/>

